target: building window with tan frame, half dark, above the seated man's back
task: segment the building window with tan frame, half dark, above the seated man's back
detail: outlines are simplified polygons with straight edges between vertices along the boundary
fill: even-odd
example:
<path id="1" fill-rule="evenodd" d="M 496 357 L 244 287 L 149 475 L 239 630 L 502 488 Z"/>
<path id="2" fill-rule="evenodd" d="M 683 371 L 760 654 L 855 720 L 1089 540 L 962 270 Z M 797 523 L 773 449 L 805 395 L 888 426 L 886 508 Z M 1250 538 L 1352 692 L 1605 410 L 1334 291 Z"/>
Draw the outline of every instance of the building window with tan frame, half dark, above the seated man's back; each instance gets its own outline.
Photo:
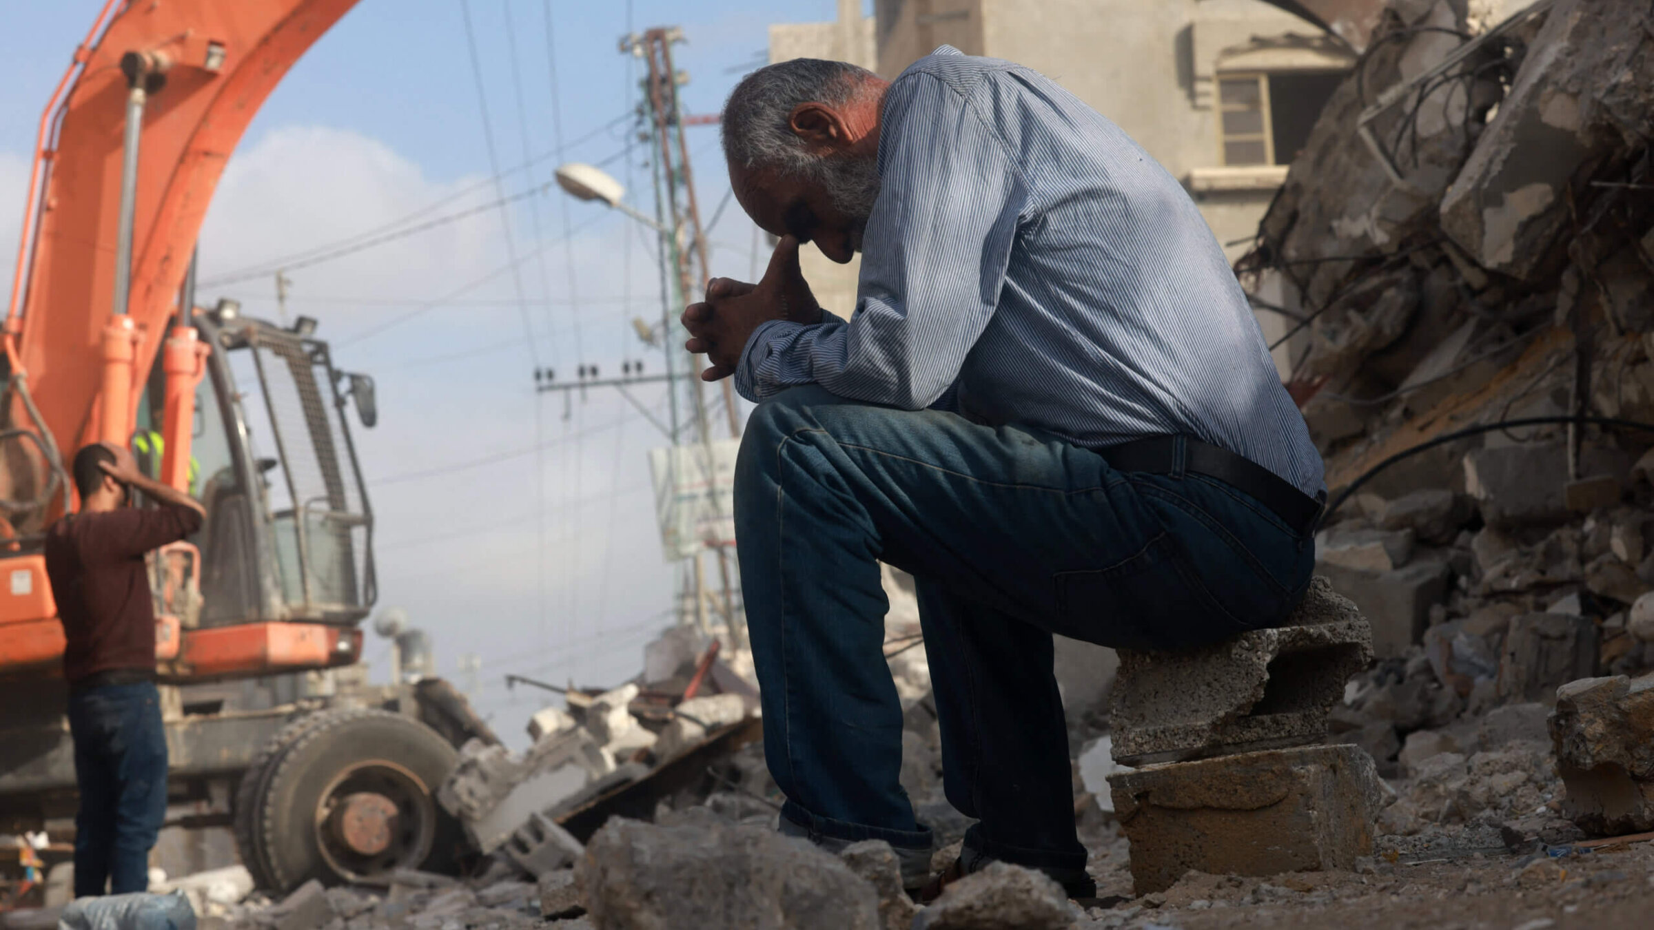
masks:
<path id="1" fill-rule="evenodd" d="M 1345 71 L 1280 71 L 1217 78 L 1226 165 L 1292 164 Z"/>

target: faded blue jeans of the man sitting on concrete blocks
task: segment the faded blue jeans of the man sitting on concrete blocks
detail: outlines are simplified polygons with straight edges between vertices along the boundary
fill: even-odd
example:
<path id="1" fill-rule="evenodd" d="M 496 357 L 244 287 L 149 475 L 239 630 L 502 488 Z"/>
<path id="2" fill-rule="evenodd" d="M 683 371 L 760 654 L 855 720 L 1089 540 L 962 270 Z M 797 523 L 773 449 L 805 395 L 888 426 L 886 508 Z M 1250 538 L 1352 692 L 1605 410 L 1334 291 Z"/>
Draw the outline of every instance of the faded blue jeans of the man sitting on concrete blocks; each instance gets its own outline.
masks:
<path id="1" fill-rule="evenodd" d="M 1282 622 L 1315 548 L 1191 473 L 1125 473 L 1025 427 L 796 387 L 748 420 L 736 539 L 782 816 L 822 837 L 928 847 L 898 781 L 878 561 L 913 574 L 948 801 L 966 847 L 1049 872 L 1075 836 L 1052 634 L 1196 647 Z M 1083 874 L 1083 872 L 1082 872 Z"/>

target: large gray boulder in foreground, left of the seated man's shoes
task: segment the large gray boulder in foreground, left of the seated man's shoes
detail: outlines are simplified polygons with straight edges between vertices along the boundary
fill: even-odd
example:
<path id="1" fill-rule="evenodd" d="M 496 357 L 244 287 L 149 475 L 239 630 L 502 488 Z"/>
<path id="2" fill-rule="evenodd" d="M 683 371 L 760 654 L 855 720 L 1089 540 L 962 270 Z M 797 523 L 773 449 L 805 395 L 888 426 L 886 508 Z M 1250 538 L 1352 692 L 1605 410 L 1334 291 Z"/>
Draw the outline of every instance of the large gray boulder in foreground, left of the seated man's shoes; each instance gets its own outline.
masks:
<path id="1" fill-rule="evenodd" d="M 576 867 L 602 930 L 877 930 L 873 885 L 839 857 L 764 827 L 658 827 L 614 817 Z"/>

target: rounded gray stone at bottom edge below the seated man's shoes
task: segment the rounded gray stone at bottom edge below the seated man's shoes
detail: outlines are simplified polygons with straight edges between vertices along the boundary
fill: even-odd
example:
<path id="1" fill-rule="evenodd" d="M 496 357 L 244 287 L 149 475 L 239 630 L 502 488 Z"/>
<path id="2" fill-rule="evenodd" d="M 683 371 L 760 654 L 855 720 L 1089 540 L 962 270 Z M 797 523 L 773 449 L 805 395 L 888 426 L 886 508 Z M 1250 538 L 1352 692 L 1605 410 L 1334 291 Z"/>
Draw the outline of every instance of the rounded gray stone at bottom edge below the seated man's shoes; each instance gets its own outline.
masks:
<path id="1" fill-rule="evenodd" d="M 920 912 L 913 930 L 1067 930 L 1083 915 L 1042 872 L 991 862 L 959 879 Z"/>

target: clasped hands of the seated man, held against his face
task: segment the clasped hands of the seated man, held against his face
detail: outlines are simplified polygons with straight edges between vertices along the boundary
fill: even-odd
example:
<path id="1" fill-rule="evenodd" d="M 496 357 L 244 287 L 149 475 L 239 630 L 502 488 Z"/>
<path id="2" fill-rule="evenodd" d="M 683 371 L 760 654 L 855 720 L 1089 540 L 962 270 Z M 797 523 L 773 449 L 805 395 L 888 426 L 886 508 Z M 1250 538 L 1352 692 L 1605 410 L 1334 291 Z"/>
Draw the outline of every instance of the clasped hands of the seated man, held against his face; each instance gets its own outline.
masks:
<path id="1" fill-rule="evenodd" d="M 713 278 L 706 281 L 706 300 L 683 309 L 683 328 L 690 331 L 685 348 L 691 354 L 705 352 L 711 361 L 701 379 L 719 381 L 734 374 L 746 341 L 771 319 L 807 324 L 822 319 L 822 308 L 799 270 L 799 240 L 791 235 L 776 243 L 762 281 L 748 285 Z"/>

